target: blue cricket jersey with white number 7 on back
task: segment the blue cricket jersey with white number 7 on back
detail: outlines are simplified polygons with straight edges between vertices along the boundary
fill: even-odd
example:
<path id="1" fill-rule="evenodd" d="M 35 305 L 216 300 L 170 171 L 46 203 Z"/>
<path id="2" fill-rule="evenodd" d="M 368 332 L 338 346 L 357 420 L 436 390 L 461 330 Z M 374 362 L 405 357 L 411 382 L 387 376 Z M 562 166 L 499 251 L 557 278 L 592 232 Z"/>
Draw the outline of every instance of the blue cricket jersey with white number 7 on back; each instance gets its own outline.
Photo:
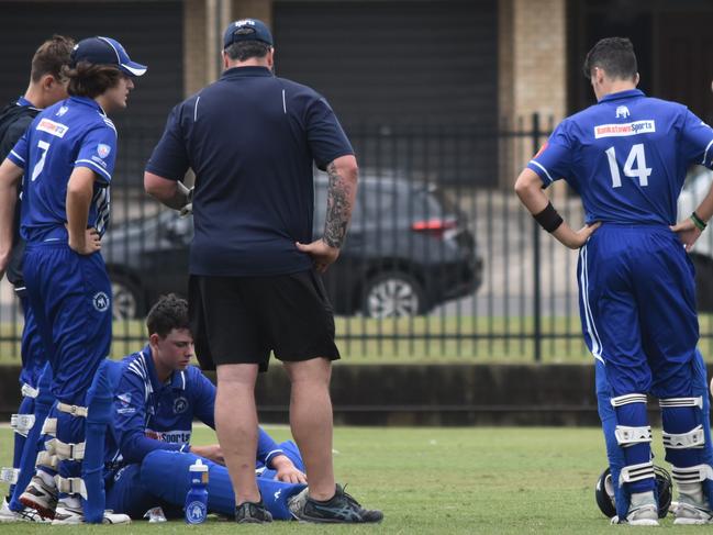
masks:
<path id="1" fill-rule="evenodd" d="M 25 170 L 21 235 L 27 243 L 67 241 L 67 183 L 75 167 L 96 174 L 88 225 L 103 235 L 116 129 L 94 100 L 70 97 L 41 112 L 8 158 Z"/>

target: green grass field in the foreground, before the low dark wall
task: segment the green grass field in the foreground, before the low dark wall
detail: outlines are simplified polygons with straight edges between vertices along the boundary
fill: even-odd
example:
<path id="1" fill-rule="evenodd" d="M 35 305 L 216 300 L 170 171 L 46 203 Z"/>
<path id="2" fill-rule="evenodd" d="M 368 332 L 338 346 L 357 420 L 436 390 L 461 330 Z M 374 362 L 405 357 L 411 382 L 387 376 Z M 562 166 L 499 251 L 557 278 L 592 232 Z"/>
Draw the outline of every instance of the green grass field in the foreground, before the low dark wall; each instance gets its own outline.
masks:
<path id="1" fill-rule="evenodd" d="M 279 439 L 285 427 L 267 426 Z M 214 441 L 199 427 L 197 444 Z M 660 443 L 660 431 L 655 431 Z M 11 455 L 11 433 L 0 430 L 0 465 Z M 237 526 L 211 519 L 200 527 L 181 522 L 129 526 L 51 527 L 2 525 L 1 533 L 374 533 L 374 534 L 599 534 L 612 530 L 594 503 L 593 487 L 605 466 L 598 428 L 455 427 L 335 430 L 337 478 L 363 504 L 380 508 L 378 526 L 314 526 L 276 522 Z M 655 448 L 657 456 L 660 447 Z M 4 489 L 2 489 L 4 490 Z M 710 533 L 710 526 L 672 525 L 676 533 Z"/>

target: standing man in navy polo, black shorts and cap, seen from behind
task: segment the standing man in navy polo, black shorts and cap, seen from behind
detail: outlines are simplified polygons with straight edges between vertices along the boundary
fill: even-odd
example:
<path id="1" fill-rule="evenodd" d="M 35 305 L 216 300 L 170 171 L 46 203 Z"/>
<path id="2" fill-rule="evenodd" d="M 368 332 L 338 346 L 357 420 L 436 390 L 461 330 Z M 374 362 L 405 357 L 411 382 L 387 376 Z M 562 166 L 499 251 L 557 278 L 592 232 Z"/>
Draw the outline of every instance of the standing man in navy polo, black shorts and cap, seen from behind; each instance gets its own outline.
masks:
<path id="1" fill-rule="evenodd" d="M 255 19 L 223 35 L 220 80 L 178 104 L 146 166 L 146 191 L 180 210 L 192 198 L 189 302 L 201 366 L 218 367 L 215 423 L 237 522 L 269 522 L 255 482 L 255 380 L 270 352 L 292 383 L 290 423 L 311 522 L 379 522 L 335 486 L 334 317 L 316 271 L 339 254 L 356 194 L 354 151 L 326 100 L 272 74 L 272 36 Z M 330 176 L 324 234 L 312 241 L 313 164 Z M 181 183 L 196 172 L 194 196 Z"/>

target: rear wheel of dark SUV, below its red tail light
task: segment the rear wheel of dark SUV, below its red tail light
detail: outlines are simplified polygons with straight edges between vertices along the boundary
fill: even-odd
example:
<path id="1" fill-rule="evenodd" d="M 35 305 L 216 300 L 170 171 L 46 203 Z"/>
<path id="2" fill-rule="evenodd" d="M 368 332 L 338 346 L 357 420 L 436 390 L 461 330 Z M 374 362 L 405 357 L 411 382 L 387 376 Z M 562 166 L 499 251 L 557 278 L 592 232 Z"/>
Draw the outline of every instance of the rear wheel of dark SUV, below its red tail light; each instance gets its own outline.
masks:
<path id="1" fill-rule="evenodd" d="M 369 317 L 402 317 L 425 312 L 421 283 L 402 271 L 388 271 L 369 279 L 364 288 L 364 313 Z"/>

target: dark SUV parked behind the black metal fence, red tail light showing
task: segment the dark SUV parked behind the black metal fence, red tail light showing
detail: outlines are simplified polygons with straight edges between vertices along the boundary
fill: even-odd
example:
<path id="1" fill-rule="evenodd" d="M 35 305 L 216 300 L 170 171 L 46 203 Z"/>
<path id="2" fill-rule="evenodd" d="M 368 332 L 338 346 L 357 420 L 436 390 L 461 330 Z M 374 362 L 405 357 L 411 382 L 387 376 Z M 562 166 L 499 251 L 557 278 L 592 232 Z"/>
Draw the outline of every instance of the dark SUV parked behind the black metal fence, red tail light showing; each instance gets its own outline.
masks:
<path id="1" fill-rule="evenodd" d="M 315 179 L 315 236 L 324 227 L 326 187 Z M 102 253 L 115 319 L 143 316 L 163 293 L 186 294 L 192 235 L 192 219 L 172 211 L 112 227 Z M 474 293 L 481 274 L 466 220 L 439 190 L 363 178 L 346 244 L 324 283 L 336 314 L 389 317 Z"/>

